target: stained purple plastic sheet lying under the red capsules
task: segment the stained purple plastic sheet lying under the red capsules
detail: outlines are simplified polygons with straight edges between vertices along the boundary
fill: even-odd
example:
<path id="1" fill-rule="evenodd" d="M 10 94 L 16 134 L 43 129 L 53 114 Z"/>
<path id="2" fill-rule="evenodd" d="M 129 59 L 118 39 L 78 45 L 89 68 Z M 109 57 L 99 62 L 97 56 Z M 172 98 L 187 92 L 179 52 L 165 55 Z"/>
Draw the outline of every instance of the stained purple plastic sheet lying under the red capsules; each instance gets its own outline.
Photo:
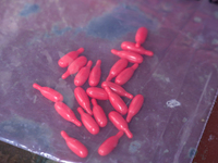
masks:
<path id="1" fill-rule="evenodd" d="M 0 25 L 1 140 L 60 162 L 192 161 L 218 87 L 217 5 L 194 0 L 1 1 Z M 133 139 L 123 136 L 102 158 L 97 149 L 117 134 L 112 124 L 93 136 L 60 117 L 32 85 L 60 91 L 80 118 L 73 76 L 61 79 L 65 68 L 57 61 L 83 47 L 88 60 L 102 61 L 102 82 L 119 59 L 110 49 L 134 41 L 141 26 L 149 32 L 143 46 L 155 54 L 144 57 L 123 87 L 134 96 L 144 95 L 145 103 L 130 123 Z M 106 113 L 112 110 L 108 101 L 99 104 Z M 86 159 L 68 149 L 61 130 L 88 148 Z"/>

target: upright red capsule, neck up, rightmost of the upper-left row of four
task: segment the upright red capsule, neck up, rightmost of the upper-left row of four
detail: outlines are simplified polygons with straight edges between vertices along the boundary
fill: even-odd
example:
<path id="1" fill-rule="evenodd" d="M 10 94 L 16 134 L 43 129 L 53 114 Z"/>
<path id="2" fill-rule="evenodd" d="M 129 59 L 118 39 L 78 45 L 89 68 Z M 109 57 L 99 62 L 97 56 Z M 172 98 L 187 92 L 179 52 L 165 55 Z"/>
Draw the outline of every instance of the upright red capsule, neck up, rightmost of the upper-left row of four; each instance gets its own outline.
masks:
<path id="1" fill-rule="evenodd" d="M 90 72 L 88 84 L 92 87 L 97 86 L 100 82 L 100 75 L 101 75 L 100 64 L 101 64 L 101 61 L 98 60 L 96 62 L 96 65 L 93 67 Z"/>

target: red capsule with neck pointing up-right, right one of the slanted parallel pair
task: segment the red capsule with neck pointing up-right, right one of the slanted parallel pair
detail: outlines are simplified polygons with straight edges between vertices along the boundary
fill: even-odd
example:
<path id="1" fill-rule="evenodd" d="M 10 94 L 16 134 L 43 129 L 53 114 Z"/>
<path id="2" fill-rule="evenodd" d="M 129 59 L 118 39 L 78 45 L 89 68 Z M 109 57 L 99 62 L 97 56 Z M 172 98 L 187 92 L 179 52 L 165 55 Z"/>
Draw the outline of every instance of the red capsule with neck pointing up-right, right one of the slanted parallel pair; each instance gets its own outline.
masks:
<path id="1" fill-rule="evenodd" d="M 125 68 L 116 77 L 116 84 L 124 85 L 134 74 L 134 71 L 138 67 L 138 64 L 135 63 L 131 67 Z"/>

